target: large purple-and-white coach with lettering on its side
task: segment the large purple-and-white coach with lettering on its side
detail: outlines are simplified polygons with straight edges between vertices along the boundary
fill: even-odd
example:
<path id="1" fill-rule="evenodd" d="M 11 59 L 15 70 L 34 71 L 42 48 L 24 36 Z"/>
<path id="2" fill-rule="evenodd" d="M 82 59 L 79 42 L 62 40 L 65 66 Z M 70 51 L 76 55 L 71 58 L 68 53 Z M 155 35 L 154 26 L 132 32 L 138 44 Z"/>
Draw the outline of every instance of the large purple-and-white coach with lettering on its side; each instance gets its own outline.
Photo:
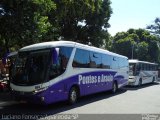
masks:
<path id="1" fill-rule="evenodd" d="M 17 100 L 39 104 L 67 101 L 128 84 L 128 58 L 70 41 L 37 43 L 21 48 L 10 87 Z"/>

